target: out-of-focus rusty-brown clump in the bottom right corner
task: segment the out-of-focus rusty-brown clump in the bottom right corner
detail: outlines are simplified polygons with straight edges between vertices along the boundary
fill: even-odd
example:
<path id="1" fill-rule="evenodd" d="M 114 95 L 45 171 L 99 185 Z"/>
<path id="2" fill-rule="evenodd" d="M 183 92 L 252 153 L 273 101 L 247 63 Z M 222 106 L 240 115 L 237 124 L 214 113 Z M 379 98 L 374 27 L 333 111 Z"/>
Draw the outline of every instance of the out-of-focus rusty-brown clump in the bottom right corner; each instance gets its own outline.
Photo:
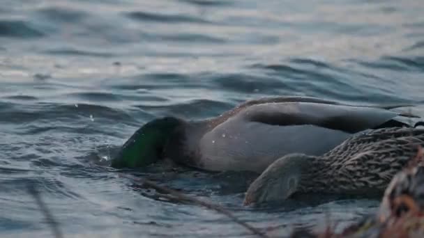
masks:
<path id="1" fill-rule="evenodd" d="M 342 232 L 331 225 L 323 231 L 296 228 L 290 237 L 424 237 L 424 154 L 417 155 L 388 184 L 376 213 L 363 216 Z"/>

